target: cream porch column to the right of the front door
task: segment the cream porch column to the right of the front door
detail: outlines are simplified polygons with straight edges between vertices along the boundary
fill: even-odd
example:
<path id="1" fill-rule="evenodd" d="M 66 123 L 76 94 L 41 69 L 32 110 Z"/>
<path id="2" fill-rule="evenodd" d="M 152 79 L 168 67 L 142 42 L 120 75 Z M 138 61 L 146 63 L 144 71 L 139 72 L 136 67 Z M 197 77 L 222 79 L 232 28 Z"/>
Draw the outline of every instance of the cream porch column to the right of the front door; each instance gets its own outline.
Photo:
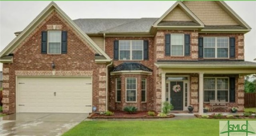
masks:
<path id="1" fill-rule="evenodd" d="M 198 114 L 204 114 L 204 73 L 199 73 L 199 105 L 198 105 Z"/>

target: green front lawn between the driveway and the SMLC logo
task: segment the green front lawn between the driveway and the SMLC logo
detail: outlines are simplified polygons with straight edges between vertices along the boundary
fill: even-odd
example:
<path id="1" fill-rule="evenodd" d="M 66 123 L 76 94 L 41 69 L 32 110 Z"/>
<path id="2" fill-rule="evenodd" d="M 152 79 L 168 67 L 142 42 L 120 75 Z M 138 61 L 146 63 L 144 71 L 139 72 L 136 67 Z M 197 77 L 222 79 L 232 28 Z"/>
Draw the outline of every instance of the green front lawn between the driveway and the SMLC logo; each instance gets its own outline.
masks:
<path id="1" fill-rule="evenodd" d="M 63 136 L 218 136 L 217 119 L 84 121 Z"/>

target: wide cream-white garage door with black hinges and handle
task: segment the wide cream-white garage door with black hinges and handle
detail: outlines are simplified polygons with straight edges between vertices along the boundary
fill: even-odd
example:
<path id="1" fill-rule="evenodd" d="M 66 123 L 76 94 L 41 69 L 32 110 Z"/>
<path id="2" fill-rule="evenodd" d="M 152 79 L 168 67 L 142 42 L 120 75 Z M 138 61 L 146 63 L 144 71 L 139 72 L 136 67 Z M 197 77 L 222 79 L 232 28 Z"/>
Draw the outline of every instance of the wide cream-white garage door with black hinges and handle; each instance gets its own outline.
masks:
<path id="1" fill-rule="evenodd" d="M 92 112 L 90 77 L 18 77 L 17 112 Z"/>

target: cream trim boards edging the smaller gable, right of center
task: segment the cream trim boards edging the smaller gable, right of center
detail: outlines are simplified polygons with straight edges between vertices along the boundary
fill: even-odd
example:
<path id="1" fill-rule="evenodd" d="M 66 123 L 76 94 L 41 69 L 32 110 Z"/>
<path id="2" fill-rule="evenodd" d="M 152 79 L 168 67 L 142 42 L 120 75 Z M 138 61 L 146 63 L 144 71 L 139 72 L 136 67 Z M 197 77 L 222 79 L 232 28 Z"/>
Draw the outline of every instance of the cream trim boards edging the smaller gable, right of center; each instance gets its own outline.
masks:
<path id="1" fill-rule="evenodd" d="M 158 26 L 158 24 L 160 22 L 162 22 L 162 20 L 168 15 L 170 14 L 170 12 L 172 12 L 172 10 L 174 10 L 177 6 L 179 6 L 184 12 L 186 12 L 186 14 L 192 18 L 192 20 L 199 24 L 200 27 L 204 27 L 204 23 L 196 16 L 194 15 L 182 2 L 177 1 L 176 3 L 174 3 L 154 24 L 153 26 L 156 27 Z M 198 26 L 198 25 L 197 25 Z"/>

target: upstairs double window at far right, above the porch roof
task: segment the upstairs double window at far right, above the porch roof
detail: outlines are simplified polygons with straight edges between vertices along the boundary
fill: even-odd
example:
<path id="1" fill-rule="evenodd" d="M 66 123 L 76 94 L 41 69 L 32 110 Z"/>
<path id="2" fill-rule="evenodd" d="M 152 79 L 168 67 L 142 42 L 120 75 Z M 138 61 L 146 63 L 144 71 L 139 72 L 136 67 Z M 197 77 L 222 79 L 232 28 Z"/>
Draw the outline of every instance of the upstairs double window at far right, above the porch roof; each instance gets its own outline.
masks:
<path id="1" fill-rule="evenodd" d="M 204 37 L 204 58 L 228 58 L 228 37 Z"/>

